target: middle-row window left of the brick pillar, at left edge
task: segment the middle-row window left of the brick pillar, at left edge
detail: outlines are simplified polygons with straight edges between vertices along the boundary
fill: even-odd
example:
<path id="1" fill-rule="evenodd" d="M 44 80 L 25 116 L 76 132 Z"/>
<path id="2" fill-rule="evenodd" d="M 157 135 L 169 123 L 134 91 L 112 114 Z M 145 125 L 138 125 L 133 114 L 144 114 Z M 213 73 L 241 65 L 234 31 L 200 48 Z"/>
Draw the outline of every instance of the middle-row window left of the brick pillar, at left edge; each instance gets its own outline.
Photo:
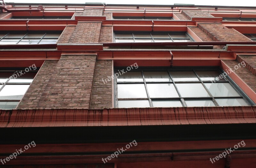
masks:
<path id="1" fill-rule="evenodd" d="M 54 44 L 61 32 L 1 32 L 0 44 Z"/>

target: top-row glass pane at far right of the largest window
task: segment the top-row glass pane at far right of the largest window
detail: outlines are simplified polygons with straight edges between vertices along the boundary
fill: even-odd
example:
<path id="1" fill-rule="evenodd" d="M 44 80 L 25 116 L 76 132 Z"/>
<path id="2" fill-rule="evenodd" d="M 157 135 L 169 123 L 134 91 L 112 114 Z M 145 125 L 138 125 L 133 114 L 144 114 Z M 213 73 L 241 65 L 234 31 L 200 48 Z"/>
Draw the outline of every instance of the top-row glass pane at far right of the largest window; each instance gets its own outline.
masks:
<path id="1" fill-rule="evenodd" d="M 226 81 L 224 78 L 220 79 L 218 71 L 196 71 L 197 75 L 203 81 Z"/>

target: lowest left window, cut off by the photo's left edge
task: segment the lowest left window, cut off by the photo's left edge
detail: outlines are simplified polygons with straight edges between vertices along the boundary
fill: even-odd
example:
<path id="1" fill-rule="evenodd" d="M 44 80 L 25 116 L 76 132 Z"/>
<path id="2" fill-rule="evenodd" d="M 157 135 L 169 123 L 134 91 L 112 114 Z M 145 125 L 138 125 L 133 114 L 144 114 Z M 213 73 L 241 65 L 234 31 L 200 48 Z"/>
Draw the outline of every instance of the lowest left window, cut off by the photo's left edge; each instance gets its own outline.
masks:
<path id="1" fill-rule="evenodd" d="M 26 93 L 37 71 L 24 69 L 0 70 L 0 109 L 15 109 Z"/>

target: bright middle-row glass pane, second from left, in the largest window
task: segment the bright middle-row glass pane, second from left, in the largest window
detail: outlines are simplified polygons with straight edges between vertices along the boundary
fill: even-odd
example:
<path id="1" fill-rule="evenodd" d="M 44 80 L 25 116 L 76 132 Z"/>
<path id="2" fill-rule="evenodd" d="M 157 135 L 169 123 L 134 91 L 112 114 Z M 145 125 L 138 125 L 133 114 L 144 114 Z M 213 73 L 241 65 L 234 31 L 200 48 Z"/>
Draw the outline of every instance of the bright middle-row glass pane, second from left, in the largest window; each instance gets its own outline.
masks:
<path id="1" fill-rule="evenodd" d="M 172 83 L 149 83 L 147 87 L 151 98 L 179 97 Z"/>

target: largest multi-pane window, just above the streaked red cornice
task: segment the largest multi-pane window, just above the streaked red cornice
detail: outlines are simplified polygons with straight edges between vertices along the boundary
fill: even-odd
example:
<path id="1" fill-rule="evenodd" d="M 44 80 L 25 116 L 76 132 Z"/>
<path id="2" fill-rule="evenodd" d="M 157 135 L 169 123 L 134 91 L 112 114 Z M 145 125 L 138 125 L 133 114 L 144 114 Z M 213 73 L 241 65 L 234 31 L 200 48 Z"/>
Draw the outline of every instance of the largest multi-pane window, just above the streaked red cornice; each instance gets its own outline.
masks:
<path id="1" fill-rule="evenodd" d="M 119 70 L 116 69 L 116 73 Z M 116 107 L 248 106 L 219 69 L 137 69 L 116 77 Z M 250 103 L 249 103 L 250 102 Z"/>

